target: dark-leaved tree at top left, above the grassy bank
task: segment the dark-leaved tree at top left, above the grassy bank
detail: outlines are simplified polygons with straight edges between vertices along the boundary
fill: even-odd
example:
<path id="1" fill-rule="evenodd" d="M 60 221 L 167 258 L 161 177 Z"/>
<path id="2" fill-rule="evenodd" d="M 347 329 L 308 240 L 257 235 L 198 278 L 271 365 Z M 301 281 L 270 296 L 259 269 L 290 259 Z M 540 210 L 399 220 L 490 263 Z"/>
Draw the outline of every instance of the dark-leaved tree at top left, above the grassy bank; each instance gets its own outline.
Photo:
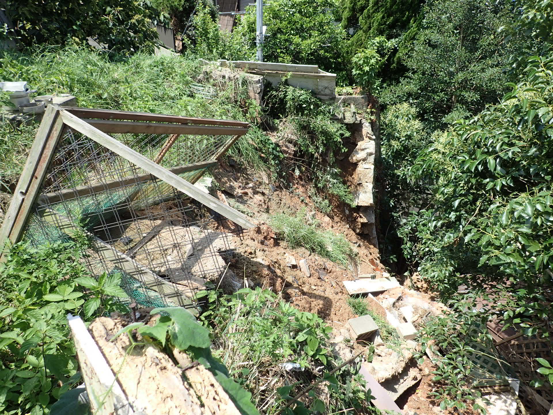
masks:
<path id="1" fill-rule="evenodd" d="M 7 0 L 6 12 L 14 28 L 4 36 L 24 46 L 84 44 L 90 37 L 109 50 L 152 52 L 158 38 L 158 13 L 147 0 Z"/>

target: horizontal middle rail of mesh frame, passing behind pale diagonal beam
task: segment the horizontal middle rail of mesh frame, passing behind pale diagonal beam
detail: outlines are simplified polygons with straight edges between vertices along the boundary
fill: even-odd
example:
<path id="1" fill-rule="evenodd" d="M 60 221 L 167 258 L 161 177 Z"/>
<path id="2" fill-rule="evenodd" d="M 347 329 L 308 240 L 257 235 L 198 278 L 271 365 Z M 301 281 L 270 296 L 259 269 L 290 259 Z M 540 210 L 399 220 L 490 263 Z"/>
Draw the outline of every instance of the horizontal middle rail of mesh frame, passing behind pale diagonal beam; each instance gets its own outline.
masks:
<path id="1" fill-rule="evenodd" d="M 173 167 L 168 169 L 169 172 L 174 174 L 181 174 L 185 172 L 191 172 L 192 170 L 206 169 L 213 167 L 217 162 L 215 160 L 208 160 L 207 162 L 200 163 L 191 163 L 186 165 L 181 165 L 178 167 Z M 138 176 L 128 176 L 121 179 L 108 181 L 107 183 L 97 183 L 90 186 L 78 186 L 72 189 L 64 189 L 60 191 L 55 191 L 52 193 L 46 193 L 40 197 L 48 204 L 58 203 L 62 200 L 76 199 L 82 196 L 92 196 L 96 193 L 100 193 L 106 190 L 112 190 L 121 188 L 123 186 L 132 186 L 135 184 L 143 183 L 144 181 L 157 180 L 152 174 L 141 174 Z"/>

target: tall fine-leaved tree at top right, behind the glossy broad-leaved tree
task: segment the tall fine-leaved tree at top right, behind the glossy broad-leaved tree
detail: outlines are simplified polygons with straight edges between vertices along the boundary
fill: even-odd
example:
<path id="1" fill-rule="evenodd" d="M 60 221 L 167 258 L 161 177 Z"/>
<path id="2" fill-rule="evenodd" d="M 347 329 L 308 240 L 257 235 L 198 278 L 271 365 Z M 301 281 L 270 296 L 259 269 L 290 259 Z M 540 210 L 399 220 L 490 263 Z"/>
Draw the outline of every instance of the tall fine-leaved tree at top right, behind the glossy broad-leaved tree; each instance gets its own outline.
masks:
<path id="1" fill-rule="evenodd" d="M 507 92 L 504 71 L 516 50 L 498 29 L 517 15 L 505 2 L 435 0 L 426 4 L 422 29 L 404 63 L 408 74 L 380 98 L 411 102 L 440 125 L 463 112 L 478 112 Z M 450 115 L 444 120 L 446 116 Z"/>

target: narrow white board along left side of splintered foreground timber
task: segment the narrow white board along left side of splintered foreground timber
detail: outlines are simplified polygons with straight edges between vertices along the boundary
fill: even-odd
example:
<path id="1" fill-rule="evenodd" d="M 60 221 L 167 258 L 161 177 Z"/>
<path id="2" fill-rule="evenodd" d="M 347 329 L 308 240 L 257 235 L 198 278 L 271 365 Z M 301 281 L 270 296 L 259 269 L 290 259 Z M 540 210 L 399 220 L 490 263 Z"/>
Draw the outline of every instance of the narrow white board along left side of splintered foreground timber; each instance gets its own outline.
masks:
<path id="1" fill-rule="evenodd" d="M 91 413 L 132 415 L 131 404 L 81 318 L 67 314 L 67 321 L 75 342 Z"/>

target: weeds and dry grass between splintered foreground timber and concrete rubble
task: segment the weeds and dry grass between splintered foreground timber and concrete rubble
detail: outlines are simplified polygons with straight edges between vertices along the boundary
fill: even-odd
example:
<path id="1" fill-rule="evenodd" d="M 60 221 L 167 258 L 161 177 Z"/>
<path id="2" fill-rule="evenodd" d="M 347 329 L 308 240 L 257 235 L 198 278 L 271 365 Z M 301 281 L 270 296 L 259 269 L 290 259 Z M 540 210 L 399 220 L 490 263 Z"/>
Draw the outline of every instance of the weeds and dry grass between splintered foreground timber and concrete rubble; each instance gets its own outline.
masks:
<path id="1" fill-rule="evenodd" d="M 270 290 L 243 288 L 231 295 L 205 292 L 210 307 L 202 314 L 213 330 L 213 355 L 252 393 L 262 414 L 279 409 L 316 379 L 332 371 L 328 344 L 332 328 L 316 314 L 300 312 Z M 346 365 L 327 378 L 324 390 L 305 395 L 294 413 L 367 413 L 367 392 L 358 365 Z M 308 409 L 309 408 L 309 409 Z"/>

